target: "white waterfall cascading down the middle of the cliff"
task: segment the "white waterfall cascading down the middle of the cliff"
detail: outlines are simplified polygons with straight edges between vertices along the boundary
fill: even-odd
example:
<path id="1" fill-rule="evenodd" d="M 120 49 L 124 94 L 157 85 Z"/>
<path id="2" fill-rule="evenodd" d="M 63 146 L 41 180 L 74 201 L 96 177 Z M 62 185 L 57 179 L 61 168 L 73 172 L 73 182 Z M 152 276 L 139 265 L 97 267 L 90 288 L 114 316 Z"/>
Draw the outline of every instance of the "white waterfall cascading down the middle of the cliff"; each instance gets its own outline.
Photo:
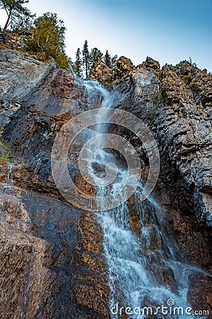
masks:
<path id="1" fill-rule="evenodd" d="M 118 96 L 117 92 L 112 94 L 97 82 L 86 81 L 83 84 L 91 101 L 95 97 L 101 100 L 100 108 L 114 108 L 117 99 L 123 99 L 123 96 Z M 101 118 L 98 118 L 97 114 L 97 123 L 100 120 L 107 123 L 107 115 L 107 109 L 100 113 Z M 107 125 L 99 124 L 90 130 L 90 136 L 107 133 L 107 129 Z M 100 152 L 95 153 L 92 161 L 97 162 L 98 167 L 105 167 L 108 161 L 114 162 L 120 178 L 118 181 L 113 181 L 110 187 L 97 186 L 97 196 L 102 198 L 108 191 L 113 193 L 119 189 L 127 170 L 119 167 L 119 162 L 114 155 L 104 149 L 104 142 L 104 137 L 100 136 L 97 147 Z M 99 171 L 95 172 L 95 169 L 90 167 L 89 170 L 90 172 L 92 170 L 92 174 L 98 175 L 98 180 L 102 177 Z M 105 211 L 104 201 L 102 206 L 101 201 L 99 204 L 100 212 L 97 216 L 103 230 L 104 251 L 109 269 L 111 317 L 121 318 L 124 313 L 121 307 L 125 310 L 130 307 L 127 318 L 187 318 L 182 311 L 189 307 L 187 303 L 188 276 L 197 269 L 183 262 L 177 245 L 167 237 L 163 229 L 163 210 L 152 196 L 149 196 L 146 201 L 141 201 L 142 190 L 143 187 L 140 184 L 134 194 L 136 214 L 141 223 L 139 238 L 131 230 L 131 214 L 127 202 L 110 211 Z M 151 316 L 157 311 L 157 306 L 163 305 L 169 306 L 168 313 L 160 317 Z M 147 312 L 141 311 L 147 306 L 151 307 L 146 309 L 149 317 L 146 315 Z M 171 311 L 174 306 L 181 307 L 183 310 L 176 308 L 173 313 Z M 194 316 L 189 315 L 189 318 Z"/>

